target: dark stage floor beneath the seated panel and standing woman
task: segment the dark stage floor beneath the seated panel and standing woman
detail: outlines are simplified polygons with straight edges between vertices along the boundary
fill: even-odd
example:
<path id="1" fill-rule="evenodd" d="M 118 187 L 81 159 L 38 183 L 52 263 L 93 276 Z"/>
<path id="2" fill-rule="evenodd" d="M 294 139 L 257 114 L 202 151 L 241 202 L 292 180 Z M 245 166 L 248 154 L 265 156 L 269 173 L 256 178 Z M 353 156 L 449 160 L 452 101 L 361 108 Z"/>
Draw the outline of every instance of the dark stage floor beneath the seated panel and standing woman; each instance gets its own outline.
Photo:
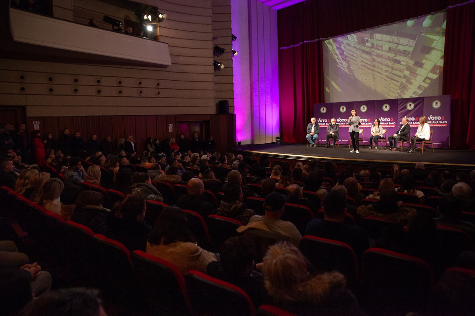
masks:
<path id="1" fill-rule="evenodd" d="M 260 144 L 237 146 L 234 150 L 243 155 L 262 155 L 267 154 L 272 158 L 287 158 L 310 160 L 330 159 L 334 162 L 352 163 L 352 164 L 380 164 L 397 163 L 400 165 L 413 165 L 417 162 L 432 165 L 432 167 L 448 167 L 460 169 L 475 169 L 475 150 L 455 150 L 455 149 L 432 149 L 417 148 L 416 153 L 408 153 L 409 147 L 404 147 L 403 151 L 398 148 L 397 151 L 386 150 L 386 147 L 368 149 L 360 145 L 360 153 L 351 153 L 348 146 L 337 148 L 307 147 L 306 144 Z"/>

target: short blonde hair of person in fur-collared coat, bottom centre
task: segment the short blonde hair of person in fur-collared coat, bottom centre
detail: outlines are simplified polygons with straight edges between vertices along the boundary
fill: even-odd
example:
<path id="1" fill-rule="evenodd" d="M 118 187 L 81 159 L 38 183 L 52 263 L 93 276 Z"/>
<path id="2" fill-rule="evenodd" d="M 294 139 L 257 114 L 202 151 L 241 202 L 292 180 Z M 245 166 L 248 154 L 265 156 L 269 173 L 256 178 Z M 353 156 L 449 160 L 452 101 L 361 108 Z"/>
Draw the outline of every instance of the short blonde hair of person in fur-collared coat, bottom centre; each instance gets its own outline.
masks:
<path id="1" fill-rule="evenodd" d="M 269 247 L 262 267 L 267 293 L 277 301 L 296 301 L 309 274 L 304 255 L 290 242 Z"/>

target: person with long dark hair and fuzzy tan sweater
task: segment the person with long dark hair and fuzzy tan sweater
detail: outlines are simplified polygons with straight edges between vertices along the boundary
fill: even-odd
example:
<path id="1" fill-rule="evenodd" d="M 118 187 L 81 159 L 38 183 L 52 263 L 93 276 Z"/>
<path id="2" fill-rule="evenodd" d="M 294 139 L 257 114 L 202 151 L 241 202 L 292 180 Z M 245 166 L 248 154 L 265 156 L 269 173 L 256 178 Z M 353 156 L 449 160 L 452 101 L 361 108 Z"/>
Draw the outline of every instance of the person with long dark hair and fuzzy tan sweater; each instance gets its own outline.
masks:
<path id="1" fill-rule="evenodd" d="M 147 253 L 171 262 L 182 274 L 189 270 L 206 273 L 206 267 L 216 261 L 216 255 L 195 243 L 186 221 L 187 215 L 179 207 L 165 207 L 150 235 Z"/>

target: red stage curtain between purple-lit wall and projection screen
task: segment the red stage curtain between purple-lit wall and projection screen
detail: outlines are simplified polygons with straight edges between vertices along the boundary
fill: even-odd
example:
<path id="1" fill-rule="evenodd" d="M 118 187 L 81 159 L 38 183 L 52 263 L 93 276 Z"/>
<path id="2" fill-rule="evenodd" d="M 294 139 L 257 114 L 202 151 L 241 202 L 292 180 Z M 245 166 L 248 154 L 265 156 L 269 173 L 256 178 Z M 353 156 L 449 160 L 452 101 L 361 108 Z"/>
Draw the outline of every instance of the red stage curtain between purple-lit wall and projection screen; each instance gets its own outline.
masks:
<path id="1" fill-rule="evenodd" d="M 305 140 L 314 103 L 323 102 L 322 41 L 279 50 L 280 135 Z"/>

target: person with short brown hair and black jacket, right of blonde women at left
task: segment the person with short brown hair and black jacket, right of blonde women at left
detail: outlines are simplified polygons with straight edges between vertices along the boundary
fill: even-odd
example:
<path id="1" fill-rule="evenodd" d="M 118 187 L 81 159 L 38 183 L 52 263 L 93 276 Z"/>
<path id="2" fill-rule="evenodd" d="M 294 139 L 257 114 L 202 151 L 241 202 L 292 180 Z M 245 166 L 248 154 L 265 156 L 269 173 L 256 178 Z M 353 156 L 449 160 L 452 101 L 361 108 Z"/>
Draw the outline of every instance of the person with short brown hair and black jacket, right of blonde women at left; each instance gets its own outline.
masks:
<path id="1" fill-rule="evenodd" d="M 111 211 L 102 207 L 104 197 L 99 192 L 83 191 L 75 202 L 71 220 L 89 227 L 95 234 L 108 235 L 106 215 Z"/>

